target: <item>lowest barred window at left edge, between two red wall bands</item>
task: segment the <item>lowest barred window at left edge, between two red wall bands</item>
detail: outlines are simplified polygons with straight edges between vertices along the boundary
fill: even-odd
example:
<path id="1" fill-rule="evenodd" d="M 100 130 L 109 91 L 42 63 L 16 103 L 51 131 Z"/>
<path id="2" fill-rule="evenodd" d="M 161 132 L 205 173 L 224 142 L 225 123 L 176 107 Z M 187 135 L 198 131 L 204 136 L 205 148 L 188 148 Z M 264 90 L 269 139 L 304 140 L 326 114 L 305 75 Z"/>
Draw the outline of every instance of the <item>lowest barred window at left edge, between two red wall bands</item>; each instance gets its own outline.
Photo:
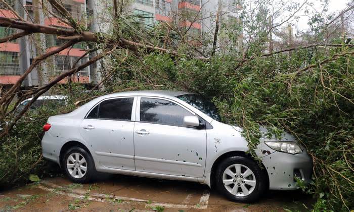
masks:
<path id="1" fill-rule="evenodd" d="M 18 52 L 0 51 L 0 75 L 20 75 Z"/>

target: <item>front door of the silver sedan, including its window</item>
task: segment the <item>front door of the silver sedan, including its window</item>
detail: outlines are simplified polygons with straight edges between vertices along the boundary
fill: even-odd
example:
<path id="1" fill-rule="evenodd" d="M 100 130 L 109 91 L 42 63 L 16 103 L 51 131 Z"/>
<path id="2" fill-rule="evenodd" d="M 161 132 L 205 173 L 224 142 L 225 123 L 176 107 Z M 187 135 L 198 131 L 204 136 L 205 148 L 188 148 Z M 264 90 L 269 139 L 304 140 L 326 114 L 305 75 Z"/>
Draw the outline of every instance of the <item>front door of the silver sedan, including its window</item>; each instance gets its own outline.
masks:
<path id="1" fill-rule="evenodd" d="M 185 116 L 195 114 L 178 102 L 138 97 L 134 127 L 137 171 L 203 177 L 206 130 L 187 127 Z"/>

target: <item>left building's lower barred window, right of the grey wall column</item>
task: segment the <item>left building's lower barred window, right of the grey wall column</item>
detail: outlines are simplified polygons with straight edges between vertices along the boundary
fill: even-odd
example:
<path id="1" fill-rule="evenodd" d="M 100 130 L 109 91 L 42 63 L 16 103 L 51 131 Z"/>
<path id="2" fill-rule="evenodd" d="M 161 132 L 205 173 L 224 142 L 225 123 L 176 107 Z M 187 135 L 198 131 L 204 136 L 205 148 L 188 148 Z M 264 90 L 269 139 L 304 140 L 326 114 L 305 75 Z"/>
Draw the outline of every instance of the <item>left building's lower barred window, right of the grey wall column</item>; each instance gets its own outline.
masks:
<path id="1" fill-rule="evenodd" d="M 75 56 L 66 56 L 66 55 L 57 55 L 55 56 L 55 71 L 56 72 L 65 72 L 72 69 L 72 65 L 79 59 L 79 57 Z M 80 66 L 81 64 L 87 62 L 89 60 L 88 57 L 82 58 L 76 64 L 75 67 Z M 85 67 L 82 71 L 79 71 L 81 76 L 89 76 L 89 67 Z"/>

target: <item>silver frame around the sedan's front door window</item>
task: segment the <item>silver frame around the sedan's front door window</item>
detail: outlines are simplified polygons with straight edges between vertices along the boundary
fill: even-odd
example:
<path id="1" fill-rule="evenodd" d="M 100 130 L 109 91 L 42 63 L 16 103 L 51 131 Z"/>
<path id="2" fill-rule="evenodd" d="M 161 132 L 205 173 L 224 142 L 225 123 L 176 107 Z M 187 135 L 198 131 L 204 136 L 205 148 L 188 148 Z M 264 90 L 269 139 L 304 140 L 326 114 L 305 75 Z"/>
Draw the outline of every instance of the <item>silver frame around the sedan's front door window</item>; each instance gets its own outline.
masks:
<path id="1" fill-rule="evenodd" d="M 143 122 L 140 121 L 140 105 L 141 105 L 141 99 L 142 98 L 155 98 L 155 99 L 161 99 L 161 100 L 165 100 L 165 101 L 170 101 L 172 103 L 175 103 L 177 105 L 179 105 L 180 107 L 182 107 L 183 109 L 185 109 L 187 112 L 191 113 L 191 115 L 198 117 L 199 119 L 203 120 L 204 122 L 206 122 L 202 117 L 200 117 L 198 114 L 196 114 L 195 112 L 193 112 L 192 110 L 188 109 L 187 107 L 185 107 L 184 105 L 182 105 L 181 103 L 179 103 L 178 101 L 175 101 L 173 99 L 170 98 L 165 98 L 165 97 L 159 97 L 159 96 L 138 96 L 137 99 L 137 104 L 136 104 L 136 113 L 135 113 L 135 120 L 136 122 L 141 122 L 141 123 L 149 123 L 149 124 L 158 124 L 158 125 L 166 125 L 166 126 L 173 126 L 173 127 L 184 127 L 184 128 L 192 128 L 192 129 L 205 129 L 205 128 L 200 128 L 200 127 L 191 127 L 191 126 L 186 126 L 186 125 L 172 125 L 172 124 L 164 124 L 164 123 L 158 123 L 158 122 Z M 205 125 L 205 123 L 204 123 Z"/>

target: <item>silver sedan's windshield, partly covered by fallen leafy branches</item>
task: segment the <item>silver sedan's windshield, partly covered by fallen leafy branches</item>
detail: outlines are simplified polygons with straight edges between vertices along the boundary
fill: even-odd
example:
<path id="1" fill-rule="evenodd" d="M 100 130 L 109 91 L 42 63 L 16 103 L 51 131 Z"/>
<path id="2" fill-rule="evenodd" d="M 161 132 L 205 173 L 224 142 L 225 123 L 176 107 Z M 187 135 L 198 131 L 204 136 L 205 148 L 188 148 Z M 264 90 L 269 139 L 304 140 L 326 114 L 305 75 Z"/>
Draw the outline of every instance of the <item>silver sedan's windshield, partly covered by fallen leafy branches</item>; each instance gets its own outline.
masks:
<path id="1" fill-rule="evenodd" d="M 206 99 L 198 94 L 184 94 L 176 97 L 189 103 L 194 108 L 208 115 L 210 118 L 215 119 L 218 122 L 221 121 L 220 116 L 217 113 L 215 104 L 209 99 Z"/>

